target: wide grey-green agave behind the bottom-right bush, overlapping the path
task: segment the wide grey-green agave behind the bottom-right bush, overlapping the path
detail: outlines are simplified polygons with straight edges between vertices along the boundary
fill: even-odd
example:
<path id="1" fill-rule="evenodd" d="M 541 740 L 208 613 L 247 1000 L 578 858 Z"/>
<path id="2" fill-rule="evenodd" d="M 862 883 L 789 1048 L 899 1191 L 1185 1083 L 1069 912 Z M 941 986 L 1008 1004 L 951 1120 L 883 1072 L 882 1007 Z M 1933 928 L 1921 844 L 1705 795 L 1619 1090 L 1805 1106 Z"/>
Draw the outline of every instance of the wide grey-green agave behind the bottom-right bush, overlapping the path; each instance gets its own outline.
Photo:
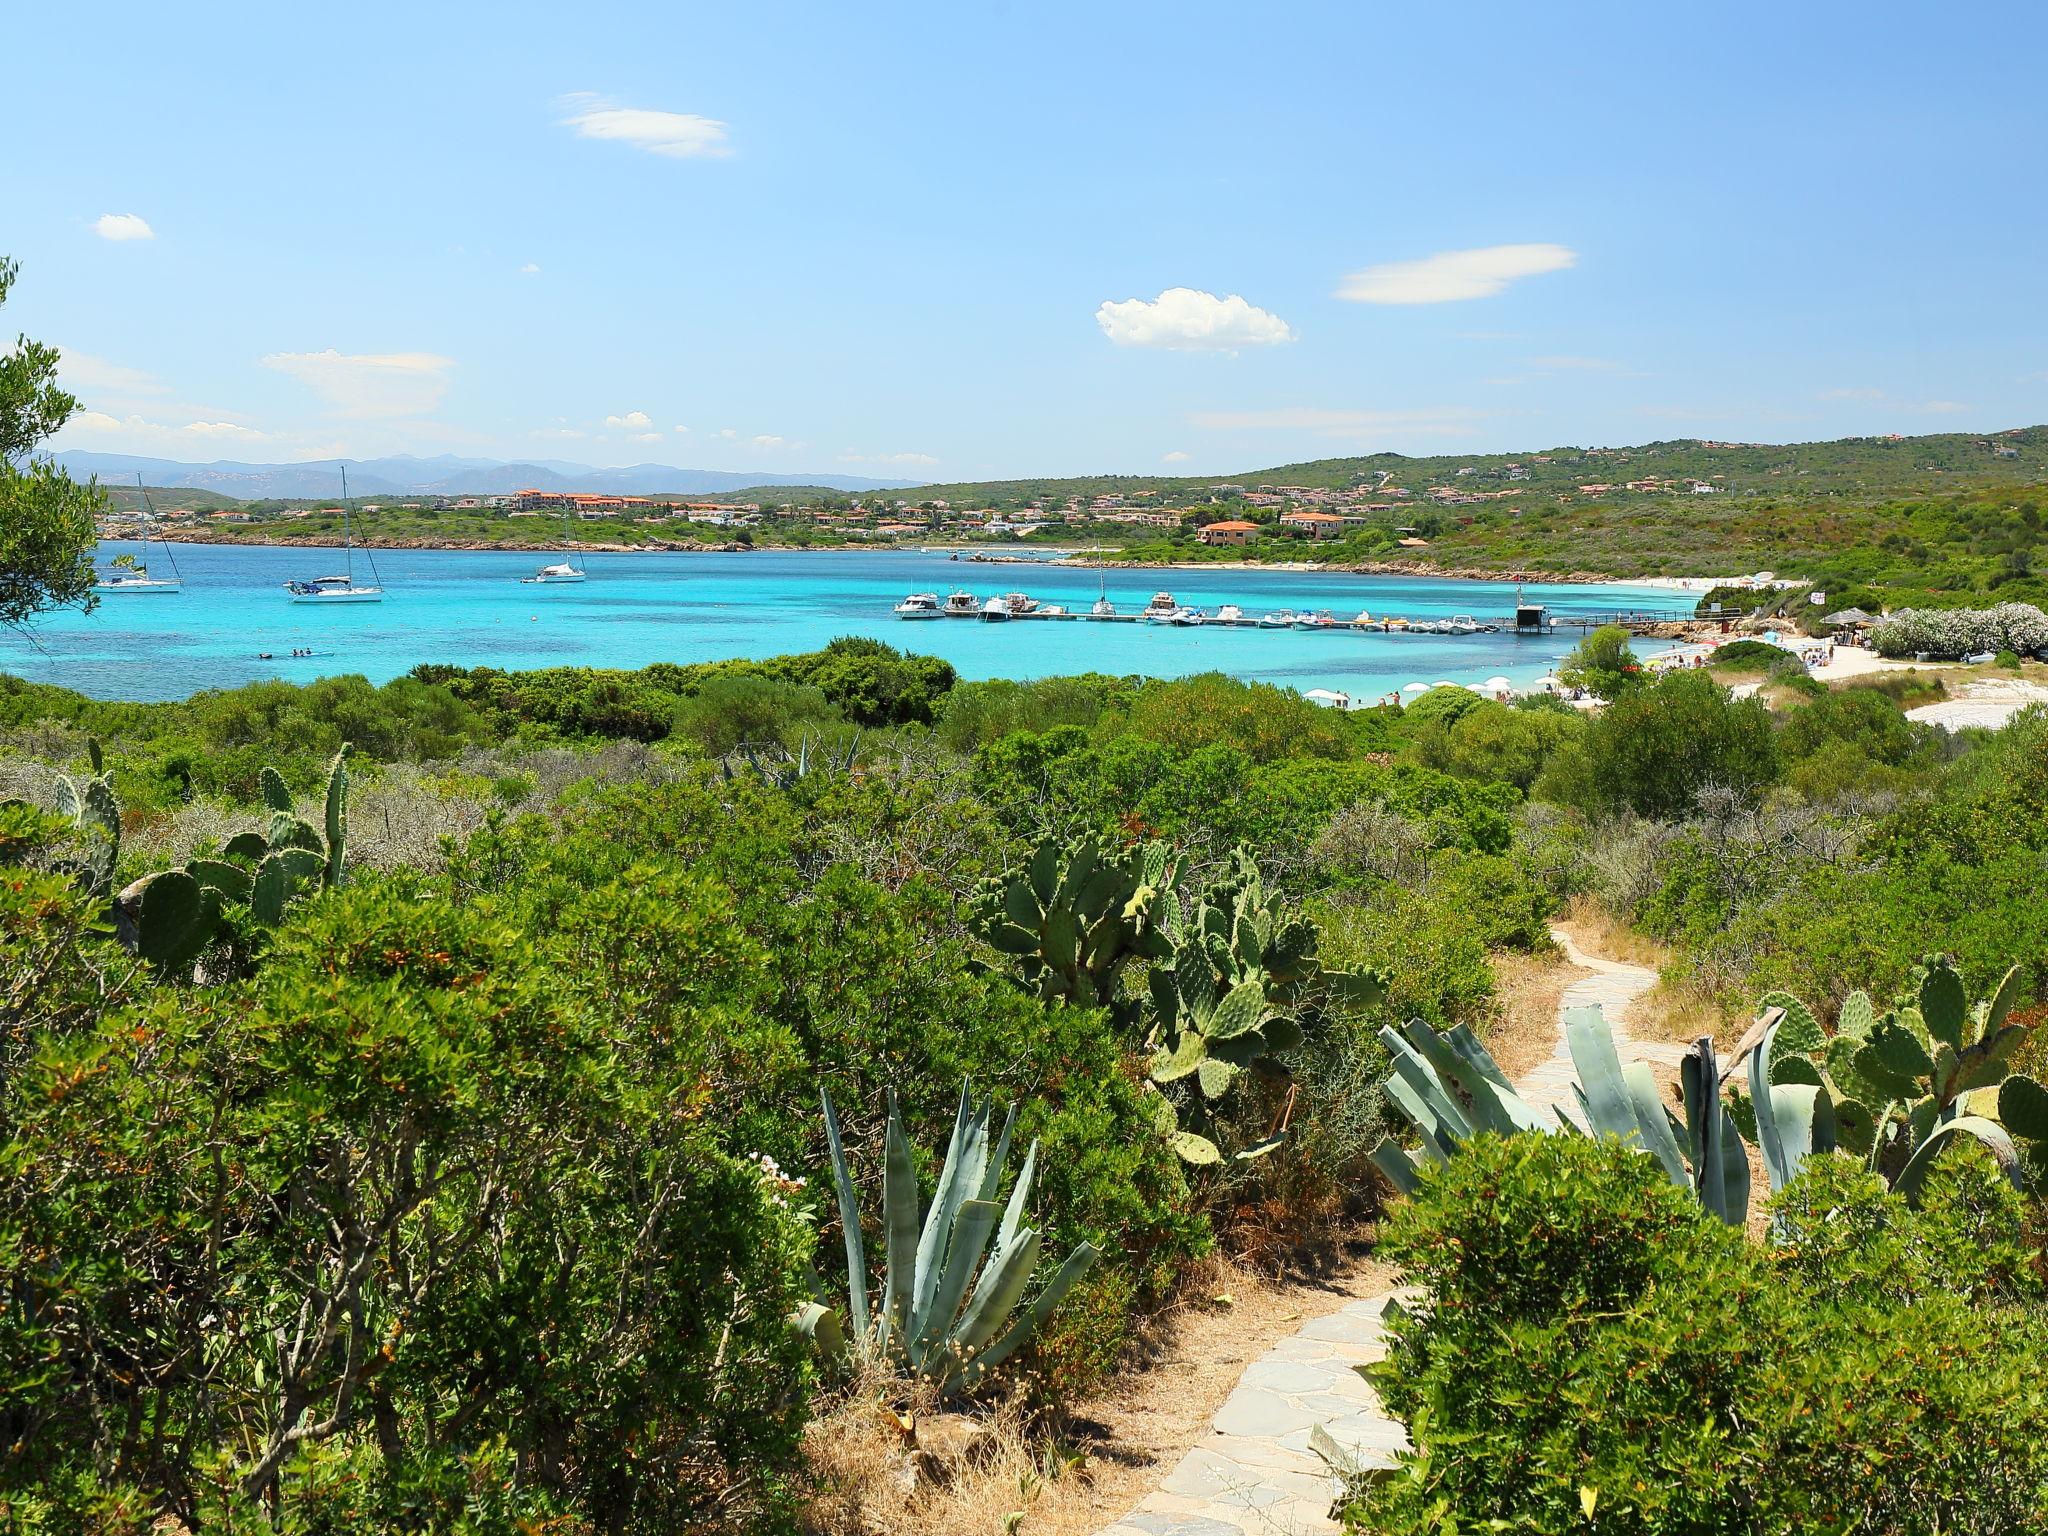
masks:
<path id="1" fill-rule="evenodd" d="M 1380 1040 L 1395 1067 L 1384 1083 L 1386 1098 L 1421 1133 L 1413 1153 L 1391 1139 L 1372 1149 L 1372 1165 L 1403 1194 L 1415 1190 L 1421 1163 L 1448 1161 L 1466 1137 L 1591 1130 L 1647 1151 L 1673 1184 L 1692 1190 L 1706 1210 L 1731 1227 L 1749 1221 L 1749 1157 L 1735 1118 L 1720 1102 L 1712 1038 L 1696 1040 L 1681 1063 L 1681 1120 L 1665 1106 L 1645 1063 L 1622 1065 L 1614 1030 L 1597 1006 L 1569 1010 L 1565 1042 L 1579 1069 L 1573 1096 L 1583 1124 L 1563 1114 L 1552 1124 L 1513 1090 L 1479 1036 L 1462 1024 L 1438 1034 L 1421 1020 L 1409 1020 L 1405 1030 L 1382 1028 Z"/>

